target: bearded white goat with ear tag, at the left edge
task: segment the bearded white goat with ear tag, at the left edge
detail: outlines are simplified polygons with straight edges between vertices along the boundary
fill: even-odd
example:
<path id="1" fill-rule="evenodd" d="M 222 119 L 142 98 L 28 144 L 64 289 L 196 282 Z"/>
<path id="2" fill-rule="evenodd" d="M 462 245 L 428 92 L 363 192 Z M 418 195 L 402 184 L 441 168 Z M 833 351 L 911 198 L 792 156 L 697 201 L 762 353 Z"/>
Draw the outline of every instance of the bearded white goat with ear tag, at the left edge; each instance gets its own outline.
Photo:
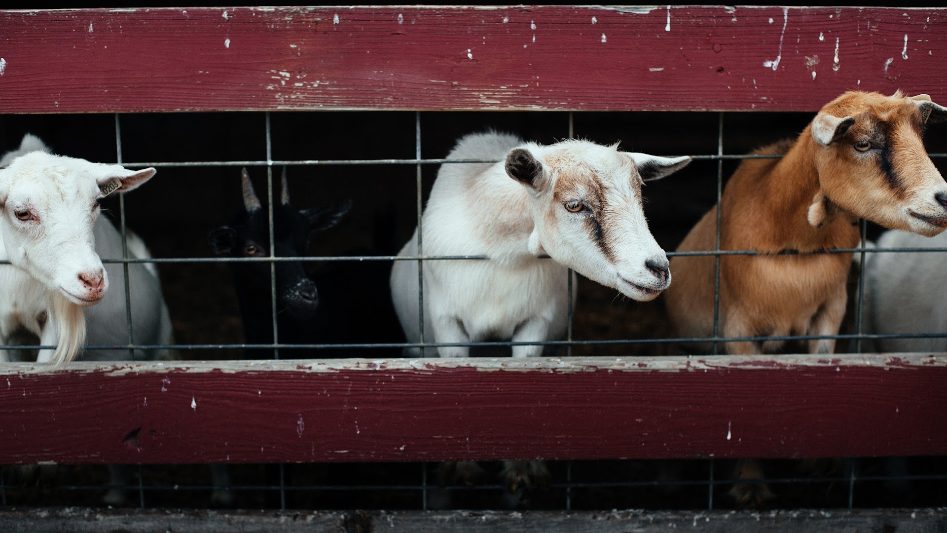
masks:
<path id="1" fill-rule="evenodd" d="M 0 159 L 0 166 L 6 167 L 0 170 L 0 258 L 12 264 L 0 267 L 0 341 L 7 344 L 13 331 L 24 328 L 43 345 L 56 346 L 55 351 L 41 350 L 38 361 L 67 362 L 76 357 L 86 338 L 83 308 L 102 302 L 110 278 L 119 278 L 117 283 L 124 288 L 122 266 L 106 268 L 99 259 L 98 253 L 121 257 L 121 237 L 110 222 L 99 218 L 98 201 L 133 190 L 155 170 L 53 156 L 30 135 L 18 150 Z M 129 237 L 129 249 L 147 254 L 134 236 Z M 140 264 L 129 266 L 129 278 L 135 295 L 135 341 L 167 342 L 170 320 L 157 278 Z M 89 313 L 90 324 L 97 326 L 90 336 L 93 343 L 127 342 L 125 327 L 111 341 L 103 334 L 125 320 L 123 299 L 111 301 L 114 304 L 92 307 L 95 310 Z M 150 329 L 154 339 L 145 339 Z M 123 358 L 111 351 L 96 358 L 109 356 Z M 0 352 L 0 359 L 7 358 Z"/>

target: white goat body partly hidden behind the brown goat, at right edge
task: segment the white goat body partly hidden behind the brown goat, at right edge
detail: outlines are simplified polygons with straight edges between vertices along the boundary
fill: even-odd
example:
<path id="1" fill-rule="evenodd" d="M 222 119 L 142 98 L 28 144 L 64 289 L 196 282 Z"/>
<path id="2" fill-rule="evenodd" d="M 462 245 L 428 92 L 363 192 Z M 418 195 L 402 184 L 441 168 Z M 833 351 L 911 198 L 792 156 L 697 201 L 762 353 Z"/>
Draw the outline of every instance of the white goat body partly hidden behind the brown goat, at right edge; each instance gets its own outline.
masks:
<path id="1" fill-rule="evenodd" d="M 877 248 L 947 248 L 947 232 L 924 237 L 885 231 Z M 866 333 L 947 333 L 947 252 L 875 252 L 865 256 Z M 858 257 L 858 254 L 855 254 Z M 947 339 L 877 339 L 879 352 L 947 352 Z"/>

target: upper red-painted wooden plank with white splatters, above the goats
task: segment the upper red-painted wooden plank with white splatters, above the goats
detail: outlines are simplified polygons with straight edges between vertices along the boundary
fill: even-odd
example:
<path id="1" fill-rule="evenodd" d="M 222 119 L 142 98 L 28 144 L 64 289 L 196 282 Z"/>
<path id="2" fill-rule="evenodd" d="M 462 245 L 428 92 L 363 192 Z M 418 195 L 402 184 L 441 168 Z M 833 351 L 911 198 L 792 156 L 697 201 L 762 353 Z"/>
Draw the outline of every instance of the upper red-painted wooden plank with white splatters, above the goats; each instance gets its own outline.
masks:
<path id="1" fill-rule="evenodd" d="M 0 11 L 6 113 L 815 111 L 947 101 L 947 9 L 318 7 Z"/>

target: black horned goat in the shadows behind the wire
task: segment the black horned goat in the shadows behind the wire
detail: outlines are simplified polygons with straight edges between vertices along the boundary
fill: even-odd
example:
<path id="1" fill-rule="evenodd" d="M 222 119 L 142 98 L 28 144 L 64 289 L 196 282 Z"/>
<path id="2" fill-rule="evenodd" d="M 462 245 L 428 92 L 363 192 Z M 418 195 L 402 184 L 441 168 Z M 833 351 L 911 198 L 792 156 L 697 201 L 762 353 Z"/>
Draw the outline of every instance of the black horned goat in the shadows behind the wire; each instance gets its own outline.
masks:
<path id="1" fill-rule="evenodd" d="M 269 223 L 253 190 L 246 169 L 242 171 L 243 209 L 229 226 L 210 232 L 210 247 L 231 257 L 267 257 Z M 290 205 L 286 173 L 281 179 L 278 205 L 273 207 L 273 232 L 277 257 L 306 255 L 313 233 L 329 230 L 351 209 L 351 201 L 296 210 Z M 356 250 L 349 255 L 367 255 Z M 278 261 L 276 265 L 277 334 L 280 344 L 401 342 L 387 287 L 384 262 L 329 262 L 311 277 L 304 262 Z M 230 264 L 241 307 L 247 343 L 273 342 L 271 275 L 269 262 Z M 314 278 L 314 279 L 313 279 Z M 318 288 L 316 288 L 318 287 Z M 397 357 L 397 350 L 393 351 Z M 372 353 L 371 356 L 377 356 Z M 388 355 L 388 354 L 386 354 Z M 366 357 L 363 350 L 292 349 L 283 358 Z M 262 353 L 254 357 L 265 357 Z"/>

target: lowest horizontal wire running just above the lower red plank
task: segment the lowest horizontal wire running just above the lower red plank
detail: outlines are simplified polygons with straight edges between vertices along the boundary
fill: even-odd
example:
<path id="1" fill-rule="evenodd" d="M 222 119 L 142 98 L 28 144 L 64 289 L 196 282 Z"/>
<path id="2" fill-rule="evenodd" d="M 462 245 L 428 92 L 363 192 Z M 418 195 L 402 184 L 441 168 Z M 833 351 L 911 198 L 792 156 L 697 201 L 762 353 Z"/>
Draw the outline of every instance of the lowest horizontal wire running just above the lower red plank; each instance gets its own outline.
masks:
<path id="1" fill-rule="evenodd" d="M 511 340 L 491 340 L 484 342 L 361 342 L 361 343 L 336 343 L 336 344 L 89 344 L 86 350 L 273 350 L 273 349 L 298 349 L 298 350 L 320 350 L 326 348 L 440 348 L 444 346 L 598 346 L 609 344 L 648 344 L 661 343 L 673 344 L 678 342 L 743 342 L 755 340 L 853 340 L 853 339 L 944 339 L 947 338 L 947 332 L 944 333 L 862 333 L 845 335 L 783 335 L 772 337 L 688 337 L 688 338 L 661 338 L 661 339 L 613 339 L 613 340 L 533 340 L 533 341 L 511 341 Z M 45 346 L 36 344 L 24 345 L 0 345 L 0 350 L 41 350 L 53 349 L 55 346 Z M 852 356 L 861 357 L 860 354 L 828 354 L 829 356 Z M 723 357 L 702 355 L 700 357 Z M 106 362 L 106 361 L 102 361 Z M 127 361 L 117 360 L 116 363 Z"/>

